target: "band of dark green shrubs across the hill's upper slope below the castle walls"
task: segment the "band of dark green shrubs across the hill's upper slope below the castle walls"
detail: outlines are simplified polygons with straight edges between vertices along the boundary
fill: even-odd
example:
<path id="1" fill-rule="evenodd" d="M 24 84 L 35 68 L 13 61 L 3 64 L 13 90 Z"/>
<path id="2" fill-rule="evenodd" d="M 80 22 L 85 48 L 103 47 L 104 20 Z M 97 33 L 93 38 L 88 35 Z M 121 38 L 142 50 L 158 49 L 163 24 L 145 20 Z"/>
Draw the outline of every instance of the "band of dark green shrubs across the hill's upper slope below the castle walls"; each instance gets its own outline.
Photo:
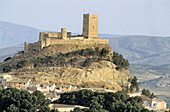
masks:
<path id="1" fill-rule="evenodd" d="M 86 48 L 68 53 L 58 53 L 58 55 L 53 56 L 39 56 L 32 60 L 19 60 L 17 63 L 15 63 L 15 65 L 4 66 L 3 71 L 9 72 L 11 69 L 20 69 L 31 64 L 33 64 L 35 68 L 64 65 L 73 65 L 74 67 L 88 67 L 91 65 L 92 62 L 98 62 L 101 60 L 113 62 L 115 65 L 117 65 L 117 69 L 129 67 L 128 60 L 124 59 L 122 55 L 114 52 L 111 59 L 108 57 L 108 54 L 109 50 L 106 48 L 103 48 L 101 50 L 99 50 L 98 47 L 96 47 L 95 49 Z M 7 58 L 4 61 L 8 60 L 11 60 L 11 58 Z"/>

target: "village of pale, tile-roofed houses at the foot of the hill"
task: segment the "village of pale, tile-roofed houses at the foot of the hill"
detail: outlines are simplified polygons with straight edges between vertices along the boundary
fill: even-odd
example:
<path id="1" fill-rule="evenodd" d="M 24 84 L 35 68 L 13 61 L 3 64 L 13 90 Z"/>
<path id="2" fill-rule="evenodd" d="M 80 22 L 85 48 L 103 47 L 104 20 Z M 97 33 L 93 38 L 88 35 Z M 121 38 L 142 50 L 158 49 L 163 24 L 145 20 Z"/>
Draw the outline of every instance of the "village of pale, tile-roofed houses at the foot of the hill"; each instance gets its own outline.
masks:
<path id="1" fill-rule="evenodd" d="M 12 77 L 11 75 L 6 74 L 1 74 L 0 75 L 0 88 L 17 88 L 19 90 L 27 90 L 30 93 L 33 93 L 34 91 L 38 90 L 41 91 L 46 99 L 50 99 L 51 101 L 55 101 L 60 98 L 60 95 L 65 92 L 71 92 L 71 91 L 79 91 L 82 89 L 89 89 L 92 90 L 93 92 L 98 91 L 98 92 L 116 92 L 113 90 L 109 89 L 104 89 L 104 88 L 80 88 L 77 86 L 72 86 L 72 85 L 61 85 L 61 86 L 56 86 L 53 83 L 47 83 L 47 84 L 33 84 L 31 79 L 19 79 Z M 155 110 L 155 111 L 161 111 L 161 110 L 167 110 L 166 105 L 167 103 L 159 98 L 153 98 L 153 99 L 148 99 L 144 95 L 141 94 L 141 92 L 136 92 L 136 93 L 129 93 L 130 97 L 135 97 L 135 96 L 141 96 L 143 98 L 143 106 L 149 110 Z M 65 105 L 65 104 L 50 104 L 49 106 L 51 109 L 57 108 L 61 112 L 69 112 L 73 110 L 75 107 L 80 107 L 80 108 L 86 108 L 83 106 L 78 106 L 78 105 Z"/>

